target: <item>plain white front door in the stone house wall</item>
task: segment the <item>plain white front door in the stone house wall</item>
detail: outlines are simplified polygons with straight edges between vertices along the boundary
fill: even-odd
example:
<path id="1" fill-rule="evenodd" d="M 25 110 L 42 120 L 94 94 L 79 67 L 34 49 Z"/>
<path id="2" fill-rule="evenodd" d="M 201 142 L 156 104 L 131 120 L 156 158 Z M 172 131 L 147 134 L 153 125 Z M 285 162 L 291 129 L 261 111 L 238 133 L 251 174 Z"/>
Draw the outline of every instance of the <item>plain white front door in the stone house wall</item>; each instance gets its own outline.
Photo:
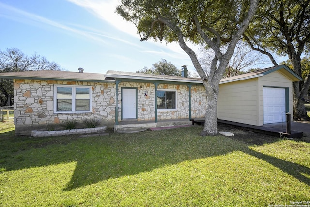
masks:
<path id="1" fill-rule="evenodd" d="M 136 119 L 136 92 L 135 88 L 122 88 L 122 114 L 123 119 Z"/>

